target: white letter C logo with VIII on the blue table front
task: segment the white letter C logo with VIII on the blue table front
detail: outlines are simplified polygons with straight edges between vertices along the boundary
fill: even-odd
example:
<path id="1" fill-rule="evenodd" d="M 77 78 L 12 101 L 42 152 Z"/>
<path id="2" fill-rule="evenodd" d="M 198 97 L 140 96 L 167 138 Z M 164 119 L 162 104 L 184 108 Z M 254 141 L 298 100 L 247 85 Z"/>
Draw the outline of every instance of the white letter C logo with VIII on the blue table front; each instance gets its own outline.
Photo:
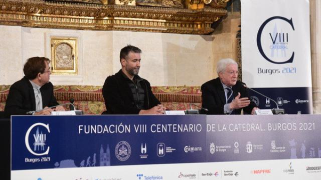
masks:
<path id="1" fill-rule="evenodd" d="M 37 127 L 37 129 L 35 127 Z M 46 131 L 50 133 L 49 124 L 45 124 L 41 122 L 34 123 L 28 128 L 25 136 L 25 144 L 30 153 L 34 155 L 46 155 L 49 153 L 50 146 L 47 146 L 46 144 L 47 143 Z M 31 138 L 32 140 L 29 139 L 30 135 L 32 135 L 32 138 Z M 33 142 L 32 143 L 33 148 L 30 146 L 29 141 Z"/>

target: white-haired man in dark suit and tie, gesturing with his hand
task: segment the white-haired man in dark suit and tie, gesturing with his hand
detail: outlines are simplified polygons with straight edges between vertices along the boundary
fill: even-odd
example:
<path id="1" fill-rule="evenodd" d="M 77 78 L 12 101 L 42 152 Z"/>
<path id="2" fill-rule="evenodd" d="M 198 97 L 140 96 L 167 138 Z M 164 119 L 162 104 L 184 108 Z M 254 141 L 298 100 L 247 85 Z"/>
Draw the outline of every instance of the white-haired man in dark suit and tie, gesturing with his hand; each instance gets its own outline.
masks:
<path id="1" fill-rule="evenodd" d="M 237 80 L 238 64 L 230 58 L 217 63 L 218 77 L 205 82 L 202 89 L 202 110 L 206 114 L 253 114 L 256 104 L 249 99 L 245 84 Z"/>

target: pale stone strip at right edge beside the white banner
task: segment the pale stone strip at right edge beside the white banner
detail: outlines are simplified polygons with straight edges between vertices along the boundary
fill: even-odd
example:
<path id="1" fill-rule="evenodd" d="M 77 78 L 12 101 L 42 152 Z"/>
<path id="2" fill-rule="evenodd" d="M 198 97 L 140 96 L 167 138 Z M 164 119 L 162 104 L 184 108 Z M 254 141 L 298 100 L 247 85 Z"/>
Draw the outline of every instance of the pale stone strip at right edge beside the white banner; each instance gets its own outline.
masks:
<path id="1" fill-rule="evenodd" d="M 321 113 L 321 1 L 310 0 L 313 113 Z"/>

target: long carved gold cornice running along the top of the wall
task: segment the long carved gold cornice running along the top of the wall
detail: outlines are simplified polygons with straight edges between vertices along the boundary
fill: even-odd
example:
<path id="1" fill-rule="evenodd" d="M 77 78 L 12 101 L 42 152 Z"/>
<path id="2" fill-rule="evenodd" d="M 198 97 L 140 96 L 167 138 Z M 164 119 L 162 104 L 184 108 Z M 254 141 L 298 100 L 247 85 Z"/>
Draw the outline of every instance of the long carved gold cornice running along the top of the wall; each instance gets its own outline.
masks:
<path id="1" fill-rule="evenodd" d="M 228 0 L 213 1 L 220 2 L 221 6 Z M 193 0 L 193 4 L 196 4 L 195 10 L 183 8 L 183 5 L 180 5 L 181 0 L 149 0 L 156 3 L 145 4 L 146 6 L 143 6 L 144 3 L 138 4 L 137 0 L 136 5 L 106 5 L 106 2 L 106 0 L 1 0 L 0 24 L 208 34 L 214 30 L 211 24 L 227 14 L 227 10 L 222 7 L 203 8 L 203 0 Z M 191 1 L 188 2 L 190 4 Z"/>

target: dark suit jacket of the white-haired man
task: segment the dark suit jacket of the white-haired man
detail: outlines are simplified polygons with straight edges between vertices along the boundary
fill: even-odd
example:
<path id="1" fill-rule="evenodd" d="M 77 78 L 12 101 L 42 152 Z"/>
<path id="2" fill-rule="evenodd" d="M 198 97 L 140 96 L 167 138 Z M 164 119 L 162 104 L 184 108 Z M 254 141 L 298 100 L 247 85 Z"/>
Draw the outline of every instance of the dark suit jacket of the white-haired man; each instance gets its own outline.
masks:
<path id="1" fill-rule="evenodd" d="M 247 89 L 242 85 L 243 82 L 237 81 L 232 86 L 234 98 L 241 93 L 241 97 L 249 97 Z M 220 78 L 212 79 L 205 82 L 202 86 L 202 107 L 207 108 L 209 111 L 202 110 L 205 114 L 224 114 L 224 104 L 226 104 L 225 92 Z M 240 97 L 240 98 L 241 98 Z M 250 97 L 249 97 L 250 99 Z M 255 103 L 251 103 L 243 107 L 244 113 L 251 114 L 253 107 L 256 107 Z M 235 114 L 241 114 L 241 108 L 234 109 Z"/>

